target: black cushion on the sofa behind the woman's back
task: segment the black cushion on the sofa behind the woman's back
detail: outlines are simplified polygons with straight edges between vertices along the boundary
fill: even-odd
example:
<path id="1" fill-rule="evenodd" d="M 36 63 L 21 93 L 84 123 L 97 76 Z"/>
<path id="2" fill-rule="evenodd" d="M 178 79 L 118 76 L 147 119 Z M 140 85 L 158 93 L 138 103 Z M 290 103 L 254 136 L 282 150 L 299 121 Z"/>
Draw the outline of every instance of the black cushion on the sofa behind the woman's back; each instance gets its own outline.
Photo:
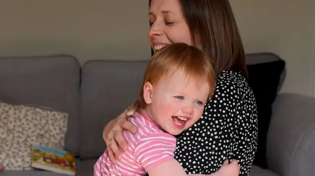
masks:
<path id="1" fill-rule="evenodd" d="M 248 66 L 248 82 L 256 99 L 258 114 L 258 148 L 254 164 L 264 169 L 267 168 L 266 136 L 272 115 L 272 104 L 278 94 L 284 66 L 285 62 L 283 60 Z"/>

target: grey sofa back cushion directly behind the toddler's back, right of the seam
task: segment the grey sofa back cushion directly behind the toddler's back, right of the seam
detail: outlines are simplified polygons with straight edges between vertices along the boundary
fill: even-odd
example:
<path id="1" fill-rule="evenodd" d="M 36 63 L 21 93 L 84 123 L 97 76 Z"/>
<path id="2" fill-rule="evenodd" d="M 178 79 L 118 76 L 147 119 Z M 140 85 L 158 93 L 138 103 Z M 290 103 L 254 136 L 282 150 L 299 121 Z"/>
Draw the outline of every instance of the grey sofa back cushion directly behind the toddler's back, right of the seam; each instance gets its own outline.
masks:
<path id="1" fill-rule="evenodd" d="M 98 158 L 106 149 L 104 126 L 139 95 L 148 61 L 89 61 L 82 68 L 80 157 Z"/>

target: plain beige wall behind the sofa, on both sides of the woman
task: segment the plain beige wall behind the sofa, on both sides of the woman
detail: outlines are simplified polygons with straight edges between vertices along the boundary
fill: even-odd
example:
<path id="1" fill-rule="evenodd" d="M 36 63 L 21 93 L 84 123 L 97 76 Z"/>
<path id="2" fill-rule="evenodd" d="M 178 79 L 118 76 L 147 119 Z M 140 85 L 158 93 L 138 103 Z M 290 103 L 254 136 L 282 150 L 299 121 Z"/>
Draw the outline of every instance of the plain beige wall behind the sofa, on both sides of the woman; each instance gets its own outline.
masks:
<path id="1" fill-rule="evenodd" d="M 315 1 L 230 1 L 246 52 L 280 55 L 288 70 L 282 92 L 313 95 Z M 1 0 L 0 56 L 149 59 L 147 8 L 147 0 Z"/>

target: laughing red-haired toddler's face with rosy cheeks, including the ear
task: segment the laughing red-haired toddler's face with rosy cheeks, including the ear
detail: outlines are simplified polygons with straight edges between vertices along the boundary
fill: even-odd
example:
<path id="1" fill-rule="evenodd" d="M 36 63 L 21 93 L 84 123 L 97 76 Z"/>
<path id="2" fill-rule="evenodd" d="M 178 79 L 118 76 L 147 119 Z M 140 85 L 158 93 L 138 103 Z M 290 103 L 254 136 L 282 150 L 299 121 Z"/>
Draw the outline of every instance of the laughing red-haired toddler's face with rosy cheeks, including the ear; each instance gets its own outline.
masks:
<path id="1" fill-rule="evenodd" d="M 144 99 L 151 119 L 164 131 L 178 135 L 202 116 L 210 87 L 179 70 L 162 77 L 157 84 L 144 85 Z"/>

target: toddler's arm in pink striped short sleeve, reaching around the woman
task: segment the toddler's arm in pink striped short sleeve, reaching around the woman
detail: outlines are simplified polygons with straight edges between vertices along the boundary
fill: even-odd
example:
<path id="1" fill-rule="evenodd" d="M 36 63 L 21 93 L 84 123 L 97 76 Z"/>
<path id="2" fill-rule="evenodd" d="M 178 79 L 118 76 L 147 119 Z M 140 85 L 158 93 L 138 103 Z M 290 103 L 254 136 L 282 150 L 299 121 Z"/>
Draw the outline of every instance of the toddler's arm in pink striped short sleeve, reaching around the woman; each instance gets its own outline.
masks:
<path id="1" fill-rule="evenodd" d="M 176 138 L 165 132 L 143 136 L 135 145 L 136 160 L 144 167 L 149 176 L 187 176 L 182 165 L 174 158 L 176 143 Z M 225 160 L 219 171 L 212 176 L 239 176 L 239 170 L 236 160 L 230 164 L 228 164 L 228 160 Z"/>

